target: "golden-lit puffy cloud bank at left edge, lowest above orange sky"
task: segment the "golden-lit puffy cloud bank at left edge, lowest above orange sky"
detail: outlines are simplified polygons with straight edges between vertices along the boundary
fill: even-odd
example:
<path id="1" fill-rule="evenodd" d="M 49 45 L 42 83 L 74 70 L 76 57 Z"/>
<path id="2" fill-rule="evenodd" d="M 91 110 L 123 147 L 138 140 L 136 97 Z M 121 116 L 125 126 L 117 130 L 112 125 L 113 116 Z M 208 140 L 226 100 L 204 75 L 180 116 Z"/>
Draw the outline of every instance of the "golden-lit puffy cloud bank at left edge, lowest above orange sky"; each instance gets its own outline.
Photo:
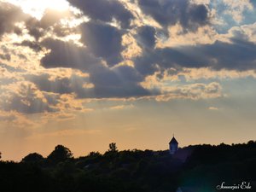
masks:
<path id="1" fill-rule="evenodd" d="M 62 85 L 61 88 L 56 87 L 61 84 L 63 78 L 56 77 L 54 79 L 50 73 L 43 73 L 41 76 L 23 74 L 23 77 L 24 79 L 2 84 L 0 87 L 0 112 L 24 113 L 27 115 L 41 113 L 47 116 L 48 119 L 52 117 L 64 120 L 70 119 L 72 114 L 75 116 L 75 113 L 86 113 L 91 110 L 90 108 L 85 108 L 82 105 L 83 101 L 75 96 L 75 93 L 79 90 L 73 88 L 73 90 L 68 91 L 66 85 Z M 74 77 L 76 76 L 74 75 Z M 33 81 L 35 83 L 32 83 Z M 44 84 L 45 82 L 47 84 Z M 50 82 L 53 83 L 51 84 Z M 77 83 L 79 84 L 79 82 Z M 81 83 L 84 84 L 84 81 L 81 81 Z M 83 87 L 83 84 L 79 85 L 79 89 L 83 89 L 80 88 Z M 51 85 L 55 86 L 55 89 L 51 89 Z M 55 90 L 55 92 L 52 90 Z M 0 117 L 0 119 L 11 118 L 13 116 L 2 115 Z"/>

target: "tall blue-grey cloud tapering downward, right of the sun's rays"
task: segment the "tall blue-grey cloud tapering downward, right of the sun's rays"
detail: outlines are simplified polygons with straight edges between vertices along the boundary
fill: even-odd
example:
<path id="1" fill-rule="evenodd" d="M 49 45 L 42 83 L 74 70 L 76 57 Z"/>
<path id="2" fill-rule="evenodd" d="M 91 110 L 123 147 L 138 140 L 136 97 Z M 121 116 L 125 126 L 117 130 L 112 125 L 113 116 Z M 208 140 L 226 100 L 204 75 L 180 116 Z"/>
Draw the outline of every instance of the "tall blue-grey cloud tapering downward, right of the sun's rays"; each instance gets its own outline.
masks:
<path id="1" fill-rule="evenodd" d="M 82 32 L 81 41 L 97 57 L 108 62 L 113 66 L 122 61 L 121 51 L 122 33 L 114 26 L 109 26 L 101 22 L 89 21 L 80 26 Z"/>

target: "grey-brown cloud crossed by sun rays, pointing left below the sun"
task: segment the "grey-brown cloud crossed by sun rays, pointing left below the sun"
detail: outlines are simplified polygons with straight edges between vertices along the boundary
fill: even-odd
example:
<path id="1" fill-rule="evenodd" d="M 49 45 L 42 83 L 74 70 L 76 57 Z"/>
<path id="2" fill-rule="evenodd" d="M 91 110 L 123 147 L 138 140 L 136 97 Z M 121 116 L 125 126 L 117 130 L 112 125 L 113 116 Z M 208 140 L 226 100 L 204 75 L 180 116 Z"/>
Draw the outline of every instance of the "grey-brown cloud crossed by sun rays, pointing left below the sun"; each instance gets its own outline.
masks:
<path id="1" fill-rule="evenodd" d="M 45 48 L 50 49 L 50 52 L 41 60 L 42 66 L 46 68 L 67 67 L 86 71 L 92 65 L 101 62 L 94 55 L 90 54 L 88 49 L 78 47 L 71 42 L 48 38 L 41 44 Z"/>

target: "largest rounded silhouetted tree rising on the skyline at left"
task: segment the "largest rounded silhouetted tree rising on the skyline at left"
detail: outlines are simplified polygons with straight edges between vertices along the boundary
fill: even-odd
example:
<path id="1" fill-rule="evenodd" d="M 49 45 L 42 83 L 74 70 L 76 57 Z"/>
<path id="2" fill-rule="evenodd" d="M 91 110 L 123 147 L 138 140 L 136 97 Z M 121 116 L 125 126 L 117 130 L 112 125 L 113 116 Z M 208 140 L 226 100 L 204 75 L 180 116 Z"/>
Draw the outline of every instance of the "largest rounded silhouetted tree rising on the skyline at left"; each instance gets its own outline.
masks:
<path id="1" fill-rule="evenodd" d="M 73 154 L 69 148 L 64 147 L 63 145 L 57 145 L 55 150 L 49 154 L 47 160 L 50 163 L 59 163 L 65 160 L 68 160 L 73 157 Z"/>

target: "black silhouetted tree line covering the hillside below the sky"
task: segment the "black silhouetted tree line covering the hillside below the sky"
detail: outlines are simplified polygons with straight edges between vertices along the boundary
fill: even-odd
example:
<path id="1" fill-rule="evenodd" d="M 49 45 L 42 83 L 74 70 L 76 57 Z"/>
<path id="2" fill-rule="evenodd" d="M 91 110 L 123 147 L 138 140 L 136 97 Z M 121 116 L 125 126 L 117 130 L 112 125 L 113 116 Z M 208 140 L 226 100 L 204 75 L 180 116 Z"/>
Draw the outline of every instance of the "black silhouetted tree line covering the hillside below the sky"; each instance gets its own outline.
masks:
<path id="1" fill-rule="evenodd" d="M 57 145 L 45 158 L 32 153 L 20 162 L 0 161 L 0 191 L 175 192 L 187 187 L 211 192 L 223 181 L 247 181 L 256 189 L 256 142 L 179 148 L 181 154 L 188 150 L 193 152 L 183 161 L 168 150 L 119 151 L 110 143 L 104 154 L 74 158 L 69 148 Z"/>

